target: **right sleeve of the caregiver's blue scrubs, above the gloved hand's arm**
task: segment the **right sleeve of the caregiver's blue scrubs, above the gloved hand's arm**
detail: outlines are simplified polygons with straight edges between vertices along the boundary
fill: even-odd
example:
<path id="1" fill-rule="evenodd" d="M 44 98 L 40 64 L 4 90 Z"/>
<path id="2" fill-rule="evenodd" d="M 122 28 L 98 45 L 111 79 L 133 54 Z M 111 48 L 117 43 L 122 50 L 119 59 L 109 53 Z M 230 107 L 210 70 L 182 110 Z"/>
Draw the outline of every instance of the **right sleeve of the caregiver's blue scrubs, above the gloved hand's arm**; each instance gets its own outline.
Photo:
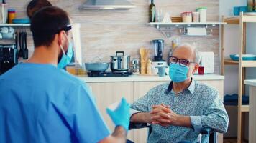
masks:
<path id="1" fill-rule="evenodd" d="M 67 121 L 73 129 L 78 142 L 99 142 L 110 135 L 99 110 L 96 107 L 91 90 L 86 84 L 70 89 L 66 98 Z"/>

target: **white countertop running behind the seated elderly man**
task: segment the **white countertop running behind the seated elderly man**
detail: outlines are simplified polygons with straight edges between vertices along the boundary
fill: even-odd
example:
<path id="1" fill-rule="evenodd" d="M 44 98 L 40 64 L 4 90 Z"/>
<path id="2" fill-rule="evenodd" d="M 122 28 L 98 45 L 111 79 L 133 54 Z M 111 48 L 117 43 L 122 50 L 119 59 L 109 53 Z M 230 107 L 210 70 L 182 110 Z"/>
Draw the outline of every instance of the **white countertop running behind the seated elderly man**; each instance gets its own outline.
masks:
<path id="1" fill-rule="evenodd" d="M 147 75 L 132 75 L 130 77 L 87 77 L 78 76 L 85 82 L 168 82 L 170 81 L 169 76 L 158 77 L 158 76 L 147 76 Z M 204 74 L 194 75 L 193 79 L 196 80 L 224 80 L 224 76 L 217 74 Z"/>

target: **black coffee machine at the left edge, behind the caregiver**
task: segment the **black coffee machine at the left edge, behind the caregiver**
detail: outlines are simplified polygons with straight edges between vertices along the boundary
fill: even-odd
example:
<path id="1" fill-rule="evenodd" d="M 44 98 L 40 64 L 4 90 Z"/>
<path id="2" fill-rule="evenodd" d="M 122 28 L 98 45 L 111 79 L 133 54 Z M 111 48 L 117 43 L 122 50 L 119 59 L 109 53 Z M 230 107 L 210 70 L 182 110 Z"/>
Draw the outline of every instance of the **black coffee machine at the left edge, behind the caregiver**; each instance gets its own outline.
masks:
<path id="1" fill-rule="evenodd" d="M 0 45 L 0 75 L 18 64 L 18 50 L 15 44 Z"/>

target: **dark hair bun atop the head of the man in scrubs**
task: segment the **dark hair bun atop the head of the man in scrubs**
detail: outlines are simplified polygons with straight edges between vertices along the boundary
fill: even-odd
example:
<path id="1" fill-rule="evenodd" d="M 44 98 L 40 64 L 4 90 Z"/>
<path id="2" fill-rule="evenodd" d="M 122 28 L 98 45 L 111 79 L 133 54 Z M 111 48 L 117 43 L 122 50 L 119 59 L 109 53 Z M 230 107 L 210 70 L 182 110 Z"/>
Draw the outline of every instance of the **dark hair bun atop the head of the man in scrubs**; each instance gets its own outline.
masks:
<path id="1" fill-rule="evenodd" d="M 46 6 L 52 6 L 52 4 L 50 4 L 50 2 L 47 0 L 30 1 L 29 4 L 27 5 L 27 16 L 29 16 L 29 19 L 31 19 L 36 11 L 39 11 L 40 9 Z"/>

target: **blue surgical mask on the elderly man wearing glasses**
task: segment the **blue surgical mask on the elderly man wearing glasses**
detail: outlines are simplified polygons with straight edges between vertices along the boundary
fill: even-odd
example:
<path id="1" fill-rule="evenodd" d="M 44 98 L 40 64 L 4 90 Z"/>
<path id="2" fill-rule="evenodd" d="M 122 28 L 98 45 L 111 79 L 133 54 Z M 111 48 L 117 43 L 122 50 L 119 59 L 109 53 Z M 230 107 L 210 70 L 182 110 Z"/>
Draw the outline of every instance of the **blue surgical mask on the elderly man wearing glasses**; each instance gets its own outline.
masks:
<path id="1" fill-rule="evenodd" d="M 188 66 L 180 66 L 180 64 L 170 64 L 169 76 L 173 82 L 184 82 L 188 79 Z"/>

